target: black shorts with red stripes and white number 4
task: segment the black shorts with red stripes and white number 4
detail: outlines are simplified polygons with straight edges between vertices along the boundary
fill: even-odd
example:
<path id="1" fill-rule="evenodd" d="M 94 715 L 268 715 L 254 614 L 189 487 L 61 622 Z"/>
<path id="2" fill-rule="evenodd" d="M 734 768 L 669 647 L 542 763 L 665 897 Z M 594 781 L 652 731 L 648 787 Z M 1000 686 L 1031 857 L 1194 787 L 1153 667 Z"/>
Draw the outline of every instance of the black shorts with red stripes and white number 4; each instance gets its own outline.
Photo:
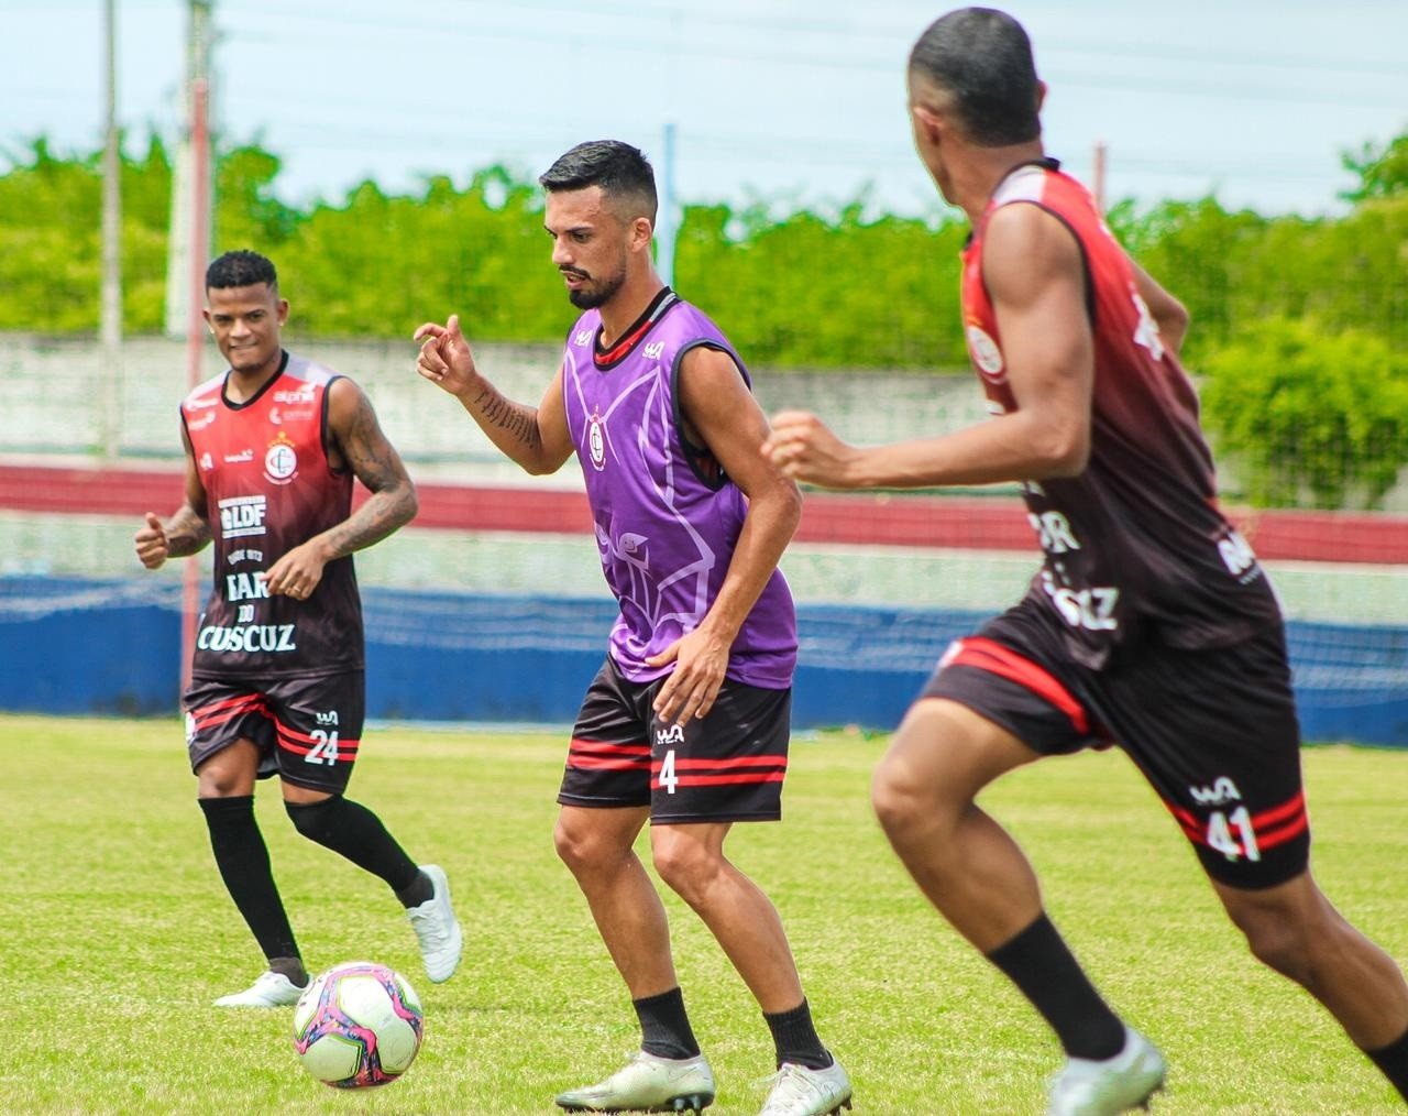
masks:
<path id="1" fill-rule="evenodd" d="M 572 730 L 558 802 L 649 806 L 650 824 L 781 817 L 791 690 L 725 681 L 708 714 L 680 726 L 650 709 L 663 683 L 631 682 L 603 664 Z"/>

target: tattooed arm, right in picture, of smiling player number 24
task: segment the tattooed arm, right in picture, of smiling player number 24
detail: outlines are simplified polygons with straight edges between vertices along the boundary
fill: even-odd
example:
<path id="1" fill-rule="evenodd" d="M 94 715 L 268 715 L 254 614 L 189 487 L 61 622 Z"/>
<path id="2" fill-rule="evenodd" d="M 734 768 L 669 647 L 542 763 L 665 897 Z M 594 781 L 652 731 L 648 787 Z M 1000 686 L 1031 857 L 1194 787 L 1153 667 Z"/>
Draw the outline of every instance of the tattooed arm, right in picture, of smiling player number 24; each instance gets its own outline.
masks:
<path id="1" fill-rule="evenodd" d="M 366 393 L 345 378 L 328 388 L 328 440 L 332 464 L 352 469 L 372 495 L 342 523 L 280 555 L 265 574 L 270 593 L 307 597 L 328 562 L 380 542 L 415 517 L 415 486 L 400 454 Z"/>

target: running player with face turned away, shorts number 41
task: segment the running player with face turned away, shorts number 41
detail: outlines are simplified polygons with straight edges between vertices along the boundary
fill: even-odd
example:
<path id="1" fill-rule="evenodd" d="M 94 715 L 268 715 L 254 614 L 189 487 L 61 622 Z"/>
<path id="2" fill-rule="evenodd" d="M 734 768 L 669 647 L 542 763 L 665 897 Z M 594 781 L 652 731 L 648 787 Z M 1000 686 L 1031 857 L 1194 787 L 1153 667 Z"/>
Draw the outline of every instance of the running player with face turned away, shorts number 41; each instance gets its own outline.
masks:
<path id="1" fill-rule="evenodd" d="M 1015 20 L 942 17 L 908 85 L 919 156 L 973 224 L 964 328 L 993 417 L 862 450 L 791 411 L 765 454 L 841 489 L 1021 482 L 1045 561 L 910 709 L 876 772 L 880 822 L 925 895 L 1059 1036 L 1049 1112 L 1140 1105 L 1164 1064 L 1091 986 L 1031 865 L 974 799 L 1042 755 L 1102 744 L 1149 779 L 1252 953 L 1408 1095 L 1408 985 L 1309 872 L 1281 614 L 1217 504 L 1177 356 L 1187 314 L 1046 156 L 1045 86 Z"/>

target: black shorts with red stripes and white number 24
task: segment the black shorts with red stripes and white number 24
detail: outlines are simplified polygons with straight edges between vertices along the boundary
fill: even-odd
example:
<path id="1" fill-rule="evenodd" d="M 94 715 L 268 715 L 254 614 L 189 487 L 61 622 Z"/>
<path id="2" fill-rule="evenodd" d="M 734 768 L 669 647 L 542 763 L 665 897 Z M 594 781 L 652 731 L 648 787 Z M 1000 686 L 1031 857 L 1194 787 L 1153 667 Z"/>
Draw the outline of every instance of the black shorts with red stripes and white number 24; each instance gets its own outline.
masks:
<path id="1" fill-rule="evenodd" d="M 182 699 L 186 748 L 199 771 L 237 740 L 259 748 L 259 778 L 341 795 L 366 717 L 363 671 L 314 676 L 193 678 Z"/>

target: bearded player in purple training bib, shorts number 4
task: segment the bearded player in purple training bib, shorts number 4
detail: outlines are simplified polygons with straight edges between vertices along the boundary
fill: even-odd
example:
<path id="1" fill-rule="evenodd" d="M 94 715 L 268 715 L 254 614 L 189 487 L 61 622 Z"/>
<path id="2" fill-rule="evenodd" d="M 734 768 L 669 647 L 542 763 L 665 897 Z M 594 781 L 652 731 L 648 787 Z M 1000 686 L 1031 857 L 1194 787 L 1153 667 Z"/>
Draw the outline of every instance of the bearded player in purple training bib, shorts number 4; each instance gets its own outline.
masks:
<path id="1" fill-rule="evenodd" d="M 567 297 L 584 313 L 536 406 L 477 369 L 458 317 L 428 323 L 417 369 L 531 473 L 576 452 L 607 583 L 621 604 L 582 703 L 558 802 L 558 854 L 586 895 L 641 1020 L 605 1081 L 569 1112 L 694 1110 L 714 1077 L 684 1010 L 660 896 L 632 851 L 704 920 L 758 999 L 777 1075 L 763 1112 L 850 1106 L 817 1037 L 781 920 L 724 855 L 735 822 L 776 820 L 787 769 L 797 621 L 777 561 L 801 514 L 758 454 L 767 421 L 718 328 L 650 262 L 655 176 L 615 141 L 580 144 L 539 179 Z"/>

